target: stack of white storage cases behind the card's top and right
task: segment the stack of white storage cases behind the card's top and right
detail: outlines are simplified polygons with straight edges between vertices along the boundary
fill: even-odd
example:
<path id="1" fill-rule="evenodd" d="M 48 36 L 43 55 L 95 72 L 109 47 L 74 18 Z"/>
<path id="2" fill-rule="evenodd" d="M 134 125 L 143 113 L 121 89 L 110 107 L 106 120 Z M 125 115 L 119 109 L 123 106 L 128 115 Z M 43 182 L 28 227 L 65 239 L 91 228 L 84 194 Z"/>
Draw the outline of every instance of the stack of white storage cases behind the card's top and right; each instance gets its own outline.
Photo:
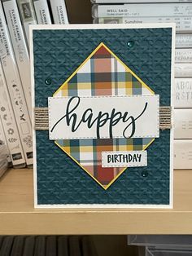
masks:
<path id="1" fill-rule="evenodd" d="M 174 169 L 192 166 L 192 1 L 92 0 L 94 23 L 176 23 Z"/>

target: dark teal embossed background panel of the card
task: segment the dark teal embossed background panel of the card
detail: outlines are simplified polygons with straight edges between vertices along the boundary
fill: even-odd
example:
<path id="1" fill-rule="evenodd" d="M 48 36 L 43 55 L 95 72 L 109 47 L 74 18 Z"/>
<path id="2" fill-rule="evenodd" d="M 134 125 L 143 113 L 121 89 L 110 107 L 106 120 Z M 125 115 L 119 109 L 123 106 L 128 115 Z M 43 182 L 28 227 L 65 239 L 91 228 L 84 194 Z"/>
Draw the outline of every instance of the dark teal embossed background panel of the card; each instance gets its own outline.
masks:
<path id="1" fill-rule="evenodd" d="M 36 106 L 46 107 L 47 97 L 100 42 L 160 95 L 161 105 L 170 105 L 171 33 L 171 29 L 33 31 Z M 129 41 L 134 42 L 131 48 Z M 161 131 L 147 149 L 147 167 L 125 170 L 107 191 L 56 147 L 47 131 L 37 131 L 36 137 L 38 204 L 169 204 L 169 130 Z"/>

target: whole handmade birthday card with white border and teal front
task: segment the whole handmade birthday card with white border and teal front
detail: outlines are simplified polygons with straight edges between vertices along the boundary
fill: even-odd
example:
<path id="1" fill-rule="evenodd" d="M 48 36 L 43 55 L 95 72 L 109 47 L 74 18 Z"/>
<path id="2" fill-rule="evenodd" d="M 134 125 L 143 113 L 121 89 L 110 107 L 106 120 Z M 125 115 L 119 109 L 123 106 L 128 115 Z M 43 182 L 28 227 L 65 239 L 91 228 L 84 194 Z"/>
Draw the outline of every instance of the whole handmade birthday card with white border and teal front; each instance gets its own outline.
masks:
<path id="1" fill-rule="evenodd" d="M 35 207 L 172 208 L 173 24 L 30 31 Z"/>

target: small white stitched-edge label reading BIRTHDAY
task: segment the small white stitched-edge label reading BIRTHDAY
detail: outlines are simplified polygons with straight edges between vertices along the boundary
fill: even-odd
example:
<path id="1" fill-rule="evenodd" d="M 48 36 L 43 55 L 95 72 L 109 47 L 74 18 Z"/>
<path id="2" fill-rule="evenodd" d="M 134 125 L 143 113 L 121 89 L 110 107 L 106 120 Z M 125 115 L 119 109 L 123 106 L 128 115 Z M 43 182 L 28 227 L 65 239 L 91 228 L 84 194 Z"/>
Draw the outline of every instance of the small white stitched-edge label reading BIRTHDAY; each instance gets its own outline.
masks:
<path id="1" fill-rule="evenodd" d="M 147 166 L 146 151 L 102 152 L 102 167 Z"/>

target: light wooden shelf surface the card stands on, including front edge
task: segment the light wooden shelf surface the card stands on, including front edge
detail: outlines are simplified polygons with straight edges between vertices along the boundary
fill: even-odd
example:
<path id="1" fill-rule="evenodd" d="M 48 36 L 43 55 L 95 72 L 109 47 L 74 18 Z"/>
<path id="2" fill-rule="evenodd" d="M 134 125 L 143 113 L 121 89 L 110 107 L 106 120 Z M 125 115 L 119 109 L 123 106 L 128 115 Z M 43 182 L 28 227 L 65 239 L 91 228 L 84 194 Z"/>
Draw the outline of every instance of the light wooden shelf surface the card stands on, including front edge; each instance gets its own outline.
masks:
<path id="1" fill-rule="evenodd" d="M 192 170 L 174 171 L 172 210 L 33 208 L 33 170 L 0 180 L 0 235 L 191 234 Z"/>

